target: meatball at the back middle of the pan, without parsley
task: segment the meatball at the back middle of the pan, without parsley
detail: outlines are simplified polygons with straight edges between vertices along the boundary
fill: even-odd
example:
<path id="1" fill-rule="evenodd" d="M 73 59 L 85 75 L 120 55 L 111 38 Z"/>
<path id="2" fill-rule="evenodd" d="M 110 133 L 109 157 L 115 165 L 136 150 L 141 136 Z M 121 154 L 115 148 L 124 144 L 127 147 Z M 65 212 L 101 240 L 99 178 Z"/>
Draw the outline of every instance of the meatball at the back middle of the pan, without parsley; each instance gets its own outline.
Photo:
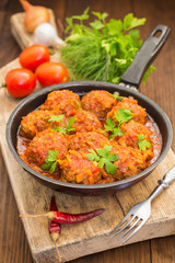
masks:
<path id="1" fill-rule="evenodd" d="M 82 98 L 82 108 L 94 113 L 100 119 L 106 117 L 107 113 L 116 104 L 116 99 L 104 90 L 90 91 Z"/>

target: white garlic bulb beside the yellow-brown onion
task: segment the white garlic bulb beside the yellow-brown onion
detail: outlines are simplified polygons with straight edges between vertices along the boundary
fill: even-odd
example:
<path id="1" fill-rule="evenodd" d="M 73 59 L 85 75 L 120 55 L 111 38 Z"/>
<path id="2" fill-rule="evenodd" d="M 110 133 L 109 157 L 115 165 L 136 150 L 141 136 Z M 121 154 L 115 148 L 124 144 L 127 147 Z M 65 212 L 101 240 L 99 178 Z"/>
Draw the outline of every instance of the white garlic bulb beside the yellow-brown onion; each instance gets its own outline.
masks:
<path id="1" fill-rule="evenodd" d="M 49 23 L 38 25 L 34 31 L 34 43 L 45 46 L 65 46 L 65 42 L 57 35 L 55 27 Z"/>

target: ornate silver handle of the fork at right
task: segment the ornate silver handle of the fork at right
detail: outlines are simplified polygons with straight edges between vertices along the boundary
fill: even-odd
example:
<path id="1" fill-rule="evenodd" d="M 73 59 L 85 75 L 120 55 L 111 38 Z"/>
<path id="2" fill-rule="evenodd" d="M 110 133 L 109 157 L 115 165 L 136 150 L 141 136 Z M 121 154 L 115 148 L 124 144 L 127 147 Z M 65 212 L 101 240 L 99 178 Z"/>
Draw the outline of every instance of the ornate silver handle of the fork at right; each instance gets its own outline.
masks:
<path id="1" fill-rule="evenodd" d="M 159 194 L 162 193 L 164 188 L 168 187 L 168 184 L 172 183 L 175 180 L 175 167 L 173 167 L 164 176 L 162 180 L 159 180 L 159 185 L 153 190 L 153 192 L 150 194 L 149 199 L 150 202 L 154 199 Z"/>

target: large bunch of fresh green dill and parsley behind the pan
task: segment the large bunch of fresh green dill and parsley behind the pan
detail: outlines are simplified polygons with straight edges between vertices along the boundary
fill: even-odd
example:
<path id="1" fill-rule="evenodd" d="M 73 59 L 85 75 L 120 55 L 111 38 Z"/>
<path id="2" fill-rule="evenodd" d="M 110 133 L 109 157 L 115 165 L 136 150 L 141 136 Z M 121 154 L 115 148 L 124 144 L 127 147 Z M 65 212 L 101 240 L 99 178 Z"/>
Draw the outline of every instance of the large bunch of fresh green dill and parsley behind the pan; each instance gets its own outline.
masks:
<path id="1" fill-rule="evenodd" d="M 137 26 L 143 25 L 145 19 L 137 19 L 132 13 L 121 20 L 110 19 L 106 22 L 106 12 L 92 12 L 95 20 L 89 20 L 89 8 L 82 15 L 67 18 L 67 45 L 61 57 L 69 69 L 71 80 L 89 79 L 118 83 L 126 69 L 132 62 L 142 41 Z M 77 21 L 77 23 L 74 22 Z M 154 69 L 150 66 L 143 81 Z"/>

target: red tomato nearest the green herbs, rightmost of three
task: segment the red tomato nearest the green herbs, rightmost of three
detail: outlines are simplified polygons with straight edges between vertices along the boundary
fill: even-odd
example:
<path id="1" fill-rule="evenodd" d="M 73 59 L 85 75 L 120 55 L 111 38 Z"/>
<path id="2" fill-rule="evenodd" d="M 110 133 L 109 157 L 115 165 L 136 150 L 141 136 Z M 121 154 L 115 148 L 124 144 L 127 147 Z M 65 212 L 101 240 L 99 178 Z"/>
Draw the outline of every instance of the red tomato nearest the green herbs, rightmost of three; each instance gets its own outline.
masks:
<path id="1" fill-rule="evenodd" d="M 44 62 L 35 73 L 42 87 L 67 82 L 69 79 L 67 68 L 60 62 Z"/>

